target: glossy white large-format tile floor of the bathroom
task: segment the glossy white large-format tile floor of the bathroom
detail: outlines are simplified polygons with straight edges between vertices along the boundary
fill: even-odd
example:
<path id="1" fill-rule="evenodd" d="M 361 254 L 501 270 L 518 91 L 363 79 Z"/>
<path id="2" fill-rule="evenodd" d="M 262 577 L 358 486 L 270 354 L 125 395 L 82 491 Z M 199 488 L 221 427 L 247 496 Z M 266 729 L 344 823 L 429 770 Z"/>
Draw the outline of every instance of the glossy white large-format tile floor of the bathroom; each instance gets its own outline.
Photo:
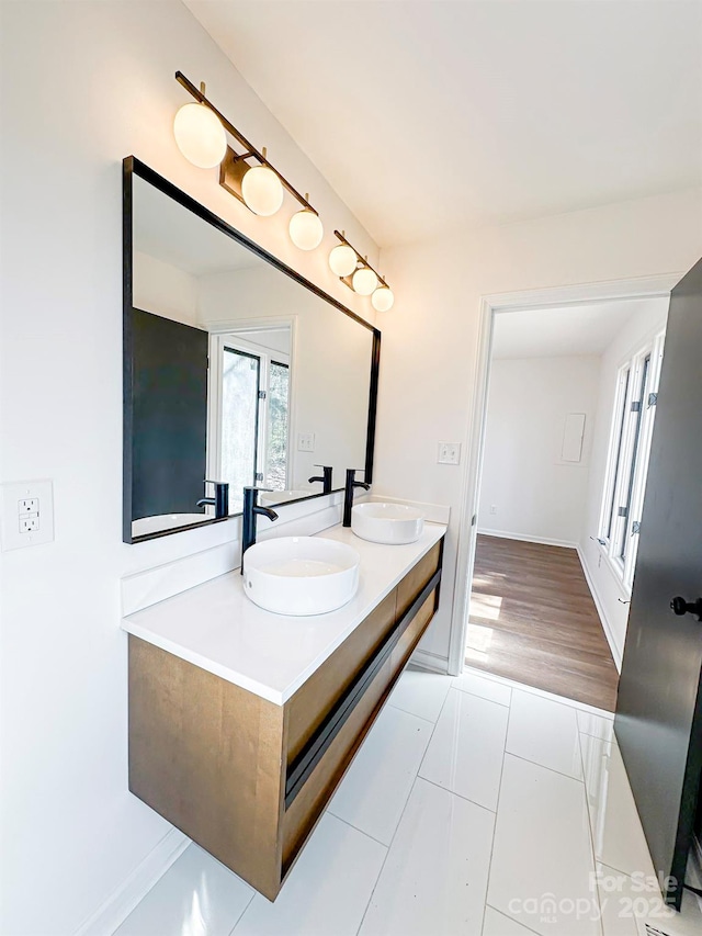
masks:
<path id="1" fill-rule="evenodd" d="M 118 936 L 702 934 L 646 891 L 607 712 L 467 670 L 408 670 L 275 903 L 196 845 Z M 635 913 L 632 913 L 635 911 Z"/>

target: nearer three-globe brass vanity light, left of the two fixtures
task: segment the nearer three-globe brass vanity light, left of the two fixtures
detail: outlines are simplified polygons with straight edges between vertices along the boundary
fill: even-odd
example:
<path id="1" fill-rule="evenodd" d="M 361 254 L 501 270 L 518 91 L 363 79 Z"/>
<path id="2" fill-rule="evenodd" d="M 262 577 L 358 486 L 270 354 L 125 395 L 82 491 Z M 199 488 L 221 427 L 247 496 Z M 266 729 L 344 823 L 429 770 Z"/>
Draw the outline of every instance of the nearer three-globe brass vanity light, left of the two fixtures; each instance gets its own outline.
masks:
<path id="1" fill-rule="evenodd" d="M 254 214 L 261 215 L 262 217 L 270 217 L 281 208 L 285 190 L 287 190 L 303 207 L 303 211 L 297 212 L 291 219 L 290 232 L 293 244 L 301 247 L 303 250 L 313 250 L 317 247 L 321 241 L 321 236 L 324 235 L 324 228 L 319 221 L 318 213 L 309 204 L 308 198 L 306 196 L 303 199 L 299 192 L 291 185 L 287 179 L 285 179 L 284 176 L 281 176 L 278 169 L 269 162 L 265 147 L 262 147 L 259 151 L 244 136 L 244 134 L 239 133 L 234 124 L 215 108 L 212 101 L 207 100 L 205 97 L 204 82 L 201 83 L 200 89 L 197 89 L 192 81 L 185 78 L 182 71 L 176 72 L 176 80 L 179 84 L 182 84 L 182 87 L 192 94 L 197 102 L 196 104 L 185 104 L 185 106 L 181 108 L 176 115 L 173 132 L 176 134 L 176 143 L 183 156 L 194 166 L 199 166 L 204 169 L 219 165 L 219 184 L 223 189 L 226 189 L 230 195 L 234 195 L 250 211 Z M 194 111 L 188 111 L 186 119 L 181 117 L 181 114 L 183 114 L 188 108 L 202 108 L 203 111 L 206 110 L 212 114 L 212 119 L 208 117 L 205 120 L 200 110 L 196 112 L 196 117 L 200 121 L 199 124 L 196 123 Z M 193 116 L 191 116 L 191 114 Z M 186 133 L 180 128 L 180 124 L 184 121 L 188 128 Z M 178 131 L 176 126 L 177 124 L 179 125 Z M 217 129 L 217 124 L 222 131 L 222 136 L 224 136 L 224 147 L 222 147 L 222 137 L 219 135 L 219 129 Z M 199 126 L 202 126 L 203 128 L 204 137 L 202 140 L 197 140 L 196 138 Z M 244 149 L 244 153 L 236 153 L 227 144 L 227 133 L 239 144 Z M 195 137 L 194 142 L 193 137 Z M 219 140 L 218 148 L 214 145 L 215 137 Z M 202 160 L 196 161 L 199 158 L 199 147 L 206 149 L 208 154 L 208 158 L 206 160 L 207 165 L 204 165 Z M 218 155 L 219 153 L 222 154 L 219 158 L 216 161 L 211 161 L 214 159 L 215 154 Z M 193 158 L 193 156 L 195 158 Z M 256 165 L 251 166 L 247 160 L 254 160 Z M 295 221 L 295 218 L 299 218 L 301 215 L 305 215 L 305 217 L 302 218 L 302 221 Z M 310 221 L 309 216 L 314 219 Z M 319 239 L 313 246 L 307 246 L 314 239 L 310 236 L 310 232 L 313 230 L 315 234 L 319 234 Z M 303 244 L 305 246 L 303 246 Z"/>

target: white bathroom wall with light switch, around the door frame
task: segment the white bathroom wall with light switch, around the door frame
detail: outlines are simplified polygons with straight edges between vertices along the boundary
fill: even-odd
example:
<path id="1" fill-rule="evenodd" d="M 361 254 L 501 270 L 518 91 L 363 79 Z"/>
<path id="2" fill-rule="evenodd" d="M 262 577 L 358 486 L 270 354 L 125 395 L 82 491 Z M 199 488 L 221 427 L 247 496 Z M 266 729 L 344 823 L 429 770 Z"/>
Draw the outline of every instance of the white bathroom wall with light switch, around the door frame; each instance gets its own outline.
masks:
<path id="1" fill-rule="evenodd" d="M 381 266 L 396 284 L 397 301 L 392 313 L 378 316 L 374 493 L 452 508 L 442 607 L 422 642 L 428 663 L 445 665 L 450 647 L 480 297 L 683 272 L 701 255 L 700 190 L 383 251 Z M 439 440 L 464 443 L 460 466 L 437 464 Z"/>

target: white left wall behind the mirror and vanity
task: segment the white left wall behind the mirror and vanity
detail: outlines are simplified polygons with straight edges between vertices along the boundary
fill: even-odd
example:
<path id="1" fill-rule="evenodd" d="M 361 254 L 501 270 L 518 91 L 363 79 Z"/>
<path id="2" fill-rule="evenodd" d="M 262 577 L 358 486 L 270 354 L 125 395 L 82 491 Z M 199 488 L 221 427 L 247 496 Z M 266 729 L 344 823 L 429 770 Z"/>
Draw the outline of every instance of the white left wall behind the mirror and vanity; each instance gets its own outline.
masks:
<path id="1" fill-rule="evenodd" d="M 56 541 L 2 555 L 0 931 L 76 931 L 168 824 L 127 791 L 118 579 L 236 523 L 122 543 L 122 158 L 134 154 L 342 302 L 335 227 L 377 250 L 180 0 L 2 3 L 3 481 L 54 481 Z M 182 69 L 327 227 L 302 253 L 173 142 Z M 10 90 L 12 89 L 12 90 Z M 291 204 L 291 211 L 292 204 Z M 367 314 L 359 300 L 355 311 Z"/>

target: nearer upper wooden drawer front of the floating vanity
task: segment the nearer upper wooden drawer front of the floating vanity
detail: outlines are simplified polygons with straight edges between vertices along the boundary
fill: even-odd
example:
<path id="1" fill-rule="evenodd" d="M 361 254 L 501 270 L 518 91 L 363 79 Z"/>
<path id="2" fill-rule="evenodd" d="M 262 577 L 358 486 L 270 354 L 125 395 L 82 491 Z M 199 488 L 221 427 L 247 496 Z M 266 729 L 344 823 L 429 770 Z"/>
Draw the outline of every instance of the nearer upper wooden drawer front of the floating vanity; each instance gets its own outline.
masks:
<path id="1" fill-rule="evenodd" d="M 395 623 L 395 598 L 396 591 L 393 590 L 290 700 L 288 764 L 297 757 L 385 641 Z"/>

